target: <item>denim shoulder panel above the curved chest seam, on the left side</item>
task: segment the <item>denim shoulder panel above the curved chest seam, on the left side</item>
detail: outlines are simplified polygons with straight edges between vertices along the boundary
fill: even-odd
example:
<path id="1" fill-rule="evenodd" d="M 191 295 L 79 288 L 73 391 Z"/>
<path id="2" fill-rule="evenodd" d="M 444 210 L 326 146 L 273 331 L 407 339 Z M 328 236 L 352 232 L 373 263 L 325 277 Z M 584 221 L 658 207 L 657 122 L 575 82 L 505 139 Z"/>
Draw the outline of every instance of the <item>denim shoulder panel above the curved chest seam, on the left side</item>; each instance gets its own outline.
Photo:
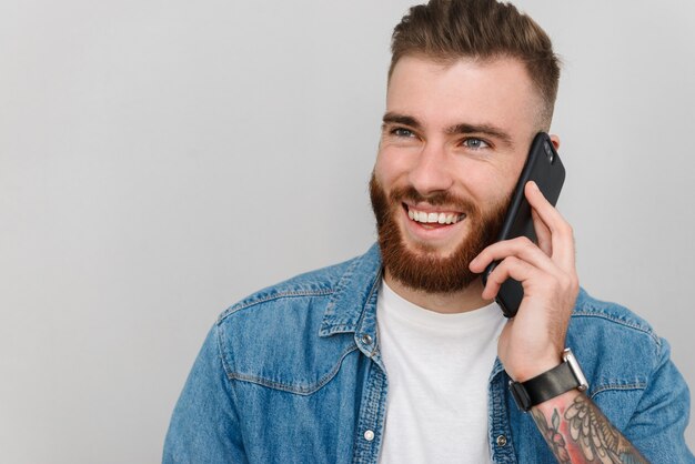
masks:
<path id="1" fill-rule="evenodd" d="M 353 333 L 322 329 L 336 301 L 362 307 L 359 276 L 375 274 L 372 254 L 265 288 L 222 312 L 214 332 L 228 379 L 299 394 L 332 379 L 356 344 Z"/>

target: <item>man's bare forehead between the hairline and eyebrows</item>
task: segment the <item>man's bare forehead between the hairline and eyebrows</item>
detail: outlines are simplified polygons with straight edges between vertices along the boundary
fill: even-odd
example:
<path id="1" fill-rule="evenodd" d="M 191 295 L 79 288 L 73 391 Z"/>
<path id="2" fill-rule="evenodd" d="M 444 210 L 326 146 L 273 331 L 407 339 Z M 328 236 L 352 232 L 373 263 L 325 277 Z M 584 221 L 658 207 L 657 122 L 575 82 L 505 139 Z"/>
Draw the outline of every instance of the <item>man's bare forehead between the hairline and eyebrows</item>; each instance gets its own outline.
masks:
<path id="1" fill-rule="evenodd" d="M 486 123 L 520 135 L 538 130 L 541 98 L 514 58 L 439 62 L 407 56 L 389 80 L 386 111 L 425 125 Z"/>

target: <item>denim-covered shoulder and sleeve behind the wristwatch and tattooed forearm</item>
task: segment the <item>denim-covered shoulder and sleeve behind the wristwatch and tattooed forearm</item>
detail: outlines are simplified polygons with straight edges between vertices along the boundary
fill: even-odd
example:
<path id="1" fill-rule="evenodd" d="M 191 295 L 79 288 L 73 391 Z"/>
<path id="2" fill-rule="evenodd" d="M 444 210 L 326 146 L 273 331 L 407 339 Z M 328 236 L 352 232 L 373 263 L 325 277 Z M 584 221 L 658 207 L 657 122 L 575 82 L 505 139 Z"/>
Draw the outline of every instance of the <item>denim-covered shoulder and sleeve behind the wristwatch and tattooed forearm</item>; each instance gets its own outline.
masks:
<path id="1" fill-rule="evenodd" d="M 588 396 L 645 456 L 663 461 L 688 455 L 683 443 L 688 389 L 671 361 L 668 342 L 649 323 L 582 290 L 567 345 L 573 351 L 576 347 L 588 379 Z"/>

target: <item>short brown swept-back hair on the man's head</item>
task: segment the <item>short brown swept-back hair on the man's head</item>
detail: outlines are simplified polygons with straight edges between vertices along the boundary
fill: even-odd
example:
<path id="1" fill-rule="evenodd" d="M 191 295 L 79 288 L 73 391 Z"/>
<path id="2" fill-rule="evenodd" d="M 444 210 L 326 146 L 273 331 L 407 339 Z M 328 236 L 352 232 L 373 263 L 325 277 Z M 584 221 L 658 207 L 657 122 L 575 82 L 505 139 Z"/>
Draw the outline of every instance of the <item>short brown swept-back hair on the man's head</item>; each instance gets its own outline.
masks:
<path id="1" fill-rule="evenodd" d="M 444 63 L 460 58 L 518 59 L 542 99 L 547 130 L 560 81 L 560 59 L 545 31 L 528 16 L 495 0 L 430 0 L 411 7 L 393 30 L 389 80 L 404 56 L 425 56 Z"/>

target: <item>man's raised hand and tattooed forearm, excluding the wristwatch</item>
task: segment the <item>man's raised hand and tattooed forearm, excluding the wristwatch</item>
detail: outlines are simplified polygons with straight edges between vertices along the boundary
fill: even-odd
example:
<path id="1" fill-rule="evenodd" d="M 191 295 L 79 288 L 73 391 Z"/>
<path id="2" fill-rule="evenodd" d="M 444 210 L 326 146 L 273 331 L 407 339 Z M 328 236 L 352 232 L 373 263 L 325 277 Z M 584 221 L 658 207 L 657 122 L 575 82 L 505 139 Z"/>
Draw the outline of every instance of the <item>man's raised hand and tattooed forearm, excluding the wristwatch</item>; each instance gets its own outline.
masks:
<path id="1" fill-rule="evenodd" d="M 524 288 L 518 313 L 502 331 L 497 355 L 515 381 L 525 382 L 561 363 L 570 316 L 578 293 L 574 234 L 570 224 L 528 182 L 537 245 L 526 238 L 487 246 L 470 264 L 483 272 L 501 263 L 487 278 L 484 299 L 494 299 L 506 279 Z M 532 410 L 533 417 L 561 463 L 646 462 L 598 407 L 578 391 L 571 391 Z"/>

